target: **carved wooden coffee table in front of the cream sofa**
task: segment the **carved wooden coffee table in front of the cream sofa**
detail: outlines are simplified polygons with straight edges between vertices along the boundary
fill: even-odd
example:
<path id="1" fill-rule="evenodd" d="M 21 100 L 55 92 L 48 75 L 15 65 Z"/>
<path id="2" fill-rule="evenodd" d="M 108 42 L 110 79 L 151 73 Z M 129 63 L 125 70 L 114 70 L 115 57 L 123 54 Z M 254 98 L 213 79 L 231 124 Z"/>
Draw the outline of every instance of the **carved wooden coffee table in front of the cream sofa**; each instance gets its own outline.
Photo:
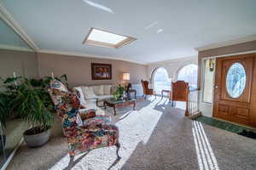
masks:
<path id="1" fill-rule="evenodd" d="M 136 110 L 136 99 L 123 99 L 123 100 L 116 100 L 114 98 L 109 98 L 109 99 L 103 99 L 103 105 L 104 108 L 106 109 L 106 106 L 108 105 L 109 107 L 113 107 L 113 115 L 116 116 L 116 108 L 117 107 L 125 107 L 132 105 L 133 106 L 133 111 Z"/>

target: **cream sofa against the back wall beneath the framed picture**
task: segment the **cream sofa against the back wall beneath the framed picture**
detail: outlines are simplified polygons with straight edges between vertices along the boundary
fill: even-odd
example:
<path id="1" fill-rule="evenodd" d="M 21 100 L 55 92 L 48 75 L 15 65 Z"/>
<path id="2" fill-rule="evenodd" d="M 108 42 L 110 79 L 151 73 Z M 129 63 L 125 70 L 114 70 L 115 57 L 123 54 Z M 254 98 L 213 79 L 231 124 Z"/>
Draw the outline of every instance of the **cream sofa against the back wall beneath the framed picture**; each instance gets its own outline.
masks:
<path id="1" fill-rule="evenodd" d="M 81 105 L 86 107 L 85 110 L 95 109 L 97 115 L 104 115 L 104 111 L 99 107 L 102 100 L 113 97 L 113 85 L 97 86 L 79 86 L 74 89 L 79 91 Z"/>

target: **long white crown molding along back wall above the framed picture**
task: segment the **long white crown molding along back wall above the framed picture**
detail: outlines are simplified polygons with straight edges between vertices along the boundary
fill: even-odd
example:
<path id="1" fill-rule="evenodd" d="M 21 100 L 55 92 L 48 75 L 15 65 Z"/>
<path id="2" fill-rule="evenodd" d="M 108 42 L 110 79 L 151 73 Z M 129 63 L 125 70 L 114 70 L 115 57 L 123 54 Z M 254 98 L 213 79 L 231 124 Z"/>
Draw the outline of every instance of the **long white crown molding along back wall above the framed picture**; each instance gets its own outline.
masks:
<path id="1" fill-rule="evenodd" d="M 57 51 L 57 50 L 50 50 L 50 49 L 40 49 L 40 50 L 38 50 L 38 53 L 69 55 L 69 56 L 87 57 L 87 58 L 96 58 L 96 59 L 114 59 L 114 60 L 121 60 L 121 61 L 136 63 L 139 65 L 147 65 L 146 63 L 143 63 L 143 62 L 138 62 L 138 61 L 131 60 L 131 59 L 120 59 L 119 57 L 100 56 L 100 55 L 84 54 L 84 53 L 74 53 L 74 52 Z"/>

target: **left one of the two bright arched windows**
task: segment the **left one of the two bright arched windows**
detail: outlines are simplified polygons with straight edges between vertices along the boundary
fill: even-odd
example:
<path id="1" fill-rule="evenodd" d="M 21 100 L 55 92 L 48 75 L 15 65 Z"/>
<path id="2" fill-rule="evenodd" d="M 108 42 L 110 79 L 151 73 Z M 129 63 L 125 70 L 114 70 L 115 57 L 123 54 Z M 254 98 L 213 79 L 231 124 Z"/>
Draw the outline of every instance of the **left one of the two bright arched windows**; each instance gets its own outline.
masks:
<path id="1" fill-rule="evenodd" d="M 165 68 L 157 68 L 153 72 L 154 91 L 156 94 L 161 94 L 162 89 L 171 88 L 171 80 Z"/>

